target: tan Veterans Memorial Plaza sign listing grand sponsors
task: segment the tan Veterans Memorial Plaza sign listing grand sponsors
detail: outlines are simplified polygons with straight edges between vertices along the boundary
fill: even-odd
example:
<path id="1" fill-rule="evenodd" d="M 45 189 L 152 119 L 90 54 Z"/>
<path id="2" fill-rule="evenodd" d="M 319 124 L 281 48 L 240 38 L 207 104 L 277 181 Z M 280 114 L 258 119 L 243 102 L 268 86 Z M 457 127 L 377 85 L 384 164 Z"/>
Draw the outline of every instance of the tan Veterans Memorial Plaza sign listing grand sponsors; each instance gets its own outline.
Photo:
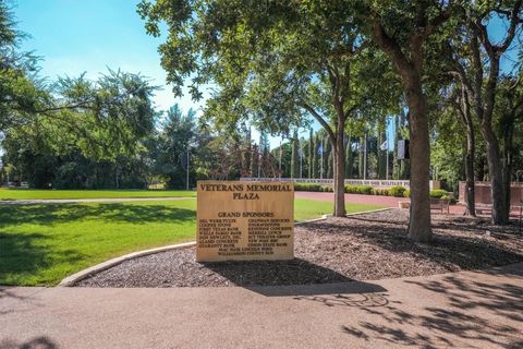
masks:
<path id="1" fill-rule="evenodd" d="M 292 260 L 292 182 L 199 181 L 196 261 Z"/>

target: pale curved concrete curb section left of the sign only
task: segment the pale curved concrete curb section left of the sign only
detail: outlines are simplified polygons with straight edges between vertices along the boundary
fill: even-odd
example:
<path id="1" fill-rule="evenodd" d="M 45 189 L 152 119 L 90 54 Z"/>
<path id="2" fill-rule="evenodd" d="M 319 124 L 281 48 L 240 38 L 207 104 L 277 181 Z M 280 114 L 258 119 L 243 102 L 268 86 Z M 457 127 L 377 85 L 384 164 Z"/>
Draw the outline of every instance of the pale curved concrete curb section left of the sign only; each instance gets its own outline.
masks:
<path id="1" fill-rule="evenodd" d="M 193 248 L 196 245 L 196 241 L 191 241 L 191 242 L 185 242 L 185 243 L 178 243 L 178 244 L 171 244 L 168 246 L 162 246 L 162 248 L 157 248 L 157 249 L 150 249 L 150 250 L 144 250 L 144 251 L 137 251 L 133 253 L 129 253 L 109 261 L 106 261 L 104 263 L 90 266 L 86 269 L 80 270 L 76 274 L 73 274 L 71 276 L 65 277 L 63 280 L 58 284 L 58 287 L 71 287 L 74 286 L 74 284 L 89 277 L 93 274 L 102 272 L 105 269 L 108 269 L 110 267 L 113 267 L 118 264 L 121 264 L 125 261 L 142 257 L 144 255 L 148 254 L 154 254 L 154 253 L 159 253 L 159 252 L 166 252 L 166 251 L 171 251 L 171 250 L 181 250 L 181 249 L 188 249 Z"/>

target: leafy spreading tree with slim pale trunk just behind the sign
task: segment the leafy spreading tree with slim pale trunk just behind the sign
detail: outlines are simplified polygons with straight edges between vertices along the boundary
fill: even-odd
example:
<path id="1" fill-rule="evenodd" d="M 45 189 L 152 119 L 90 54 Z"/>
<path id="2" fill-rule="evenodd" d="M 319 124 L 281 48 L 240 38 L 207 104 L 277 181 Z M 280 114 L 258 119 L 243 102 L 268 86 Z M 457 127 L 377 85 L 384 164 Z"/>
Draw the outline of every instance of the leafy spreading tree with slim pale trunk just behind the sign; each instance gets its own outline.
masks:
<path id="1" fill-rule="evenodd" d="M 335 216 L 345 215 L 343 180 L 345 122 L 380 86 L 380 55 L 366 49 L 345 2 L 142 1 L 149 34 L 169 28 L 159 48 L 174 92 L 194 76 L 192 91 L 212 82 L 219 91 L 206 115 L 217 122 L 252 117 L 287 133 L 311 117 L 333 148 Z M 332 16 L 332 13 L 337 13 Z M 374 83 L 373 83 L 374 79 Z"/>

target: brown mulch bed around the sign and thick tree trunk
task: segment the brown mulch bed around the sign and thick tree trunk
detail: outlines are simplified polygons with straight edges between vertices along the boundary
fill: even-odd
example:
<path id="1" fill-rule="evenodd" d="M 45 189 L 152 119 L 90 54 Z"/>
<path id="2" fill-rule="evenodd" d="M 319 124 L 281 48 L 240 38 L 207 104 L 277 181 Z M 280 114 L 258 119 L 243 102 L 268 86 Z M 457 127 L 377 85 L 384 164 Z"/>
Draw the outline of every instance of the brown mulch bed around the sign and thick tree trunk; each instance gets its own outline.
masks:
<path id="1" fill-rule="evenodd" d="M 408 210 L 329 218 L 295 227 L 292 261 L 196 263 L 194 249 L 124 262 L 81 287 L 223 287 L 330 284 L 481 269 L 523 261 L 518 226 L 433 215 L 429 244 L 406 238 Z"/>

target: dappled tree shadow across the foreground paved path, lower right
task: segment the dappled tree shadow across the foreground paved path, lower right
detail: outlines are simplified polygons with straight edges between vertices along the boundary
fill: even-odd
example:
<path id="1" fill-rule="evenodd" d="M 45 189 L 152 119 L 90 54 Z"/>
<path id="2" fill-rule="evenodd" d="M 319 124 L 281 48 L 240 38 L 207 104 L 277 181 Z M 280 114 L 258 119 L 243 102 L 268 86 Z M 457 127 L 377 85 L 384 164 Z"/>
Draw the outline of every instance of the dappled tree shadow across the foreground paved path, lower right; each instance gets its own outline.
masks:
<path id="1" fill-rule="evenodd" d="M 521 279 L 522 272 L 509 275 L 516 280 Z M 394 346 L 422 348 L 522 348 L 523 287 L 515 281 L 477 279 L 450 275 L 440 280 L 405 280 L 415 287 L 412 292 L 416 292 L 416 288 L 428 292 L 427 299 L 431 294 L 443 296 L 443 305 L 438 303 L 415 311 L 391 304 L 379 310 L 363 309 L 379 321 L 370 317 L 355 326 L 342 326 L 342 330 L 369 344 L 378 339 Z M 492 316 L 503 321 L 494 321 Z"/>

